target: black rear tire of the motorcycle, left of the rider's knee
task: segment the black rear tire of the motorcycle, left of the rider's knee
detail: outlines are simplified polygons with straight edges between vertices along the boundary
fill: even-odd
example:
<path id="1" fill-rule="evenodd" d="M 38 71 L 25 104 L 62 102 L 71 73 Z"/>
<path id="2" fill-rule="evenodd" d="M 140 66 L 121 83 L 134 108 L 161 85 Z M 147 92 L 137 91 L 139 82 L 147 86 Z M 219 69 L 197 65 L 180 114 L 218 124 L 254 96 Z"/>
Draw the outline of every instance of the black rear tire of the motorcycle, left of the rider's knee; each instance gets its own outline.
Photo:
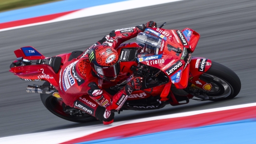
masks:
<path id="1" fill-rule="evenodd" d="M 50 86 L 48 82 L 45 82 L 44 85 Z M 86 123 L 89 121 L 94 121 L 96 118 L 89 114 L 83 114 L 80 116 L 69 115 L 64 113 L 63 107 L 59 104 L 57 98 L 49 94 L 40 94 L 41 101 L 45 105 L 45 107 L 54 115 L 61 117 L 65 120 L 78 122 L 78 123 Z M 78 110 L 78 109 L 77 109 Z"/>

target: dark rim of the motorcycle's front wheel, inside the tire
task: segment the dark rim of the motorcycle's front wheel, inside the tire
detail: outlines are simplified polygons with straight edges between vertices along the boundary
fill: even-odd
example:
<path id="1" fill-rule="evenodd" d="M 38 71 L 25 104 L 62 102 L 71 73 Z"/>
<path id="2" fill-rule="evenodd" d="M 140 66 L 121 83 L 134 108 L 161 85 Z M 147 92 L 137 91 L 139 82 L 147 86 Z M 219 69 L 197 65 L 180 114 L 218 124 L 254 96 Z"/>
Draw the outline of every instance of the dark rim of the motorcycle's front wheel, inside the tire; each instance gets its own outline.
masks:
<path id="1" fill-rule="evenodd" d="M 206 74 L 206 75 L 213 77 L 213 80 L 210 83 L 212 85 L 212 88 L 207 93 L 209 98 L 223 99 L 228 97 L 232 93 L 233 91 L 232 86 L 228 84 L 226 81 L 224 81 L 222 78 L 219 78 L 217 76 L 210 75 L 210 74 Z"/>

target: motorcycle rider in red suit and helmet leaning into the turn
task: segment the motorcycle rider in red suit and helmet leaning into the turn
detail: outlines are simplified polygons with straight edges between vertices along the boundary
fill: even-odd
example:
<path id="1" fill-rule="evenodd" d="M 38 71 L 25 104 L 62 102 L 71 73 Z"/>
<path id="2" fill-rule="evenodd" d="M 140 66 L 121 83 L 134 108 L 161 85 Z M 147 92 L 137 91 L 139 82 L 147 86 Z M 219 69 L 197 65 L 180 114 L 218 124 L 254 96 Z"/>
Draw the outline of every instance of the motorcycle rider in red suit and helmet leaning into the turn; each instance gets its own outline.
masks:
<path id="1" fill-rule="evenodd" d="M 133 77 L 114 96 L 102 89 L 103 80 L 114 81 L 120 72 L 119 56 L 115 49 L 144 29 L 154 27 L 157 24 L 149 21 L 132 28 L 112 30 L 80 57 L 66 62 L 61 68 L 59 80 L 59 94 L 64 103 L 82 109 L 102 120 L 103 124 L 111 124 L 113 111 L 118 111 L 128 96 L 141 88 L 142 83 L 142 77 Z"/>

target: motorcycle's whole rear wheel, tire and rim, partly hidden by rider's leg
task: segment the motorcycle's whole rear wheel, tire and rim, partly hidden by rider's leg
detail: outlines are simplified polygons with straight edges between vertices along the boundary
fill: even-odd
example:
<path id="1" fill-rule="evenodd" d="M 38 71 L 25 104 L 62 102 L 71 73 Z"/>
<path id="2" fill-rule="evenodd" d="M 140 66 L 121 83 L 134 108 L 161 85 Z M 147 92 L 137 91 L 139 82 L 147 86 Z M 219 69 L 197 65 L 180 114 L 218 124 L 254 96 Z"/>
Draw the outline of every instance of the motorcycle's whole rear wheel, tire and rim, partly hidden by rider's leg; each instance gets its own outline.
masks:
<path id="1" fill-rule="evenodd" d="M 45 82 L 44 85 L 50 85 L 48 82 Z M 41 101 L 45 105 L 45 107 L 54 115 L 61 117 L 65 120 L 85 123 L 88 121 L 96 120 L 96 118 L 92 115 L 89 115 L 79 109 L 71 108 L 71 107 L 63 107 L 62 101 L 58 100 L 54 96 L 48 94 L 40 94 Z M 64 102 L 63 102 L 64 104 Z"/>

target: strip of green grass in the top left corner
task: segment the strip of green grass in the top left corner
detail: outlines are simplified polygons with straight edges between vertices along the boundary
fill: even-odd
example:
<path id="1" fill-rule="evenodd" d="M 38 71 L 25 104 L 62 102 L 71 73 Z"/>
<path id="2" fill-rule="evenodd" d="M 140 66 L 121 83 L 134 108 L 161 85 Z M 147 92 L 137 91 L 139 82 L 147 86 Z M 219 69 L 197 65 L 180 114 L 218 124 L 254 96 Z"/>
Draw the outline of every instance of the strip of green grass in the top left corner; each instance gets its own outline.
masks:
<path id="1" fill-rule="evenodd" d="M 0 12 L 60 0 L 0 0 Z"/>

